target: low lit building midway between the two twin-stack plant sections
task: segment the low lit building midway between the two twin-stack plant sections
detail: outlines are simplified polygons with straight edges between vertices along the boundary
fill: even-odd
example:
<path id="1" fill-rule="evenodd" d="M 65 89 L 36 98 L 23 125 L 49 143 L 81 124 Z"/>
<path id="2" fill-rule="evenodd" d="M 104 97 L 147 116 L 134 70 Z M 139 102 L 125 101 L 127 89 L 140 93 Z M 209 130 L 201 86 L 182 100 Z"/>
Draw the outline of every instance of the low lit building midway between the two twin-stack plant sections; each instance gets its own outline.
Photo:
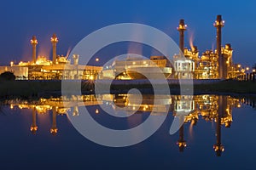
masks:
<path id="1" fill-rule="evenodd" d="M 116 59 L 112 65 L 103 68 L 102 79 L 159 79 L 160 75 L 166 78 L 172 74 L 172 65 L 165 56 L 151 56 L 150 59 L 127 57 Z"/>

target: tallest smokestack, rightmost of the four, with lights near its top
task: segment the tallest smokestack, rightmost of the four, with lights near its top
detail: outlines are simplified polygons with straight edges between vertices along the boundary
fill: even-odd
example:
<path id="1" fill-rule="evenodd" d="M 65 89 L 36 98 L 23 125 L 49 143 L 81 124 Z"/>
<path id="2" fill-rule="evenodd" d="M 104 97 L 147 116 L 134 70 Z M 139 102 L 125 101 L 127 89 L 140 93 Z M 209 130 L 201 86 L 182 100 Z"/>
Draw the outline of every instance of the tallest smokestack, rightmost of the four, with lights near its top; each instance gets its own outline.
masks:
<path id="1" fill-rule="evenodd" d="M 216 36 L 216 47 L 218 54 L 218 78 L 223 79 L 224 77 L 224 59 L 221 56 L 221 28 L 224 26 L 224 20 L 222 20 L 221 15 L 217 15 L 217 19 L 213 24 L 217 29 Z"/>

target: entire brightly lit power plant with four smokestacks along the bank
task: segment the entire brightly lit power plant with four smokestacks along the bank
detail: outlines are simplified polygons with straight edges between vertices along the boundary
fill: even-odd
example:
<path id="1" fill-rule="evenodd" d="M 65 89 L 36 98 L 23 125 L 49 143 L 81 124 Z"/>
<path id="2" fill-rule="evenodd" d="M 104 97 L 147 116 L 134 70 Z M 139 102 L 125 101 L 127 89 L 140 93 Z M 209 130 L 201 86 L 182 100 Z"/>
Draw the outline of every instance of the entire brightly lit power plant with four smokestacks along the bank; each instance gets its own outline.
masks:
<path id="1" fill-rule="evenodd" d="M 116 59 L 109 66 L 79 65 L 79 54 L 73 54 L 73 64 L 68 56 L 57 55 L 58 37 L 53 34 L 50 38 L 52 43 L 52 60 L 44 56 L 37 58 L 37 37 L 32 36 L 32 60 L 20 61 L 15 65 L 13 61 L 9 66 L 0 66 L 0 73 L 11 71 L 18 80 L 60 80 L 60 79 L 144 79 L 140 72 L 146 72 L 158 78 L 161 71 L 168 79 L 233 79 L 246 75 L 241 65 L 233 62 L 230 43 L 221 44 L 221 31 L 224 20 L 221 15 L 217 16 L 213 24 L 217 29 L 216 50 L 207 50 L 199 55 L 196 46 L 184 47 L 184 32 L 187 30 L 184 20 L 180 20 L 179 31 L 180 54 L 171 56 L 172 63 L 167 56 L 151 56 L 150 59 L 139 59 L 127 56 L 125 60 Z"/>

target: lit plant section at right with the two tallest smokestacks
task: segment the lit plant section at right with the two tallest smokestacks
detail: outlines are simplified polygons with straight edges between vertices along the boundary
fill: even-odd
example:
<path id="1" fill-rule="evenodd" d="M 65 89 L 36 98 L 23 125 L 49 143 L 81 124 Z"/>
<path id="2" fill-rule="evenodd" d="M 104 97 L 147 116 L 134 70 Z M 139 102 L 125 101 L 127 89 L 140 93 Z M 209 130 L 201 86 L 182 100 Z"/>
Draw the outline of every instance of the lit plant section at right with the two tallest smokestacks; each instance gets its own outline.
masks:
<path id="1" fill-rule="evenodd" d="M 217 28 L 217 48 L 215 51 L 207 50 L 199 56 L 196 46 L 192 46 L 191 49 L 184 48 L 184 31 L 187 30 L 187 25 L 184 24 L 184 20 L 180 20 L 177 27 L 180 54 L 173 57 L 175 78 L 230 79 L 244 74 L 241 65 L 233 62 L 233 49 L 230 43 L 224 47 L 221 45 L 221 29 L 224 26 L 221 15 L 217 16 L 213 25 Z"/>

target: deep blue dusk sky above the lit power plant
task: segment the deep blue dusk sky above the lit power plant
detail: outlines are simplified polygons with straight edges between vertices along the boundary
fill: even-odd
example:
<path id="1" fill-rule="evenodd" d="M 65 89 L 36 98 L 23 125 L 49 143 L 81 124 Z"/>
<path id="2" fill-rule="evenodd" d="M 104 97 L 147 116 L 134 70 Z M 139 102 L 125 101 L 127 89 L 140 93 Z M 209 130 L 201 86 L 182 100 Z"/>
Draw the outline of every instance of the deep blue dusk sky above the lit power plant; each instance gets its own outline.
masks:
<path id="1" fill-rule="evenodd" d="M 38 54 L 51 57 L 50 37 L 57 34 L 57 54 L 67 54 L 92 31 L 118 23 L 135 22 L 154 26 L 166 32 L 178 44 L 180 19 L 188 25 L 189 36 L 200 54 L 216 48 L 216 29 L 212 26 L 217 14 L 225 20 L 223 45 L 231 43 L 236 63 L 256 63 L 256 2 L 250 1 L 2 1 L 0 6 L 0 65 L 30 60 L 32 35 L 38 38 Z M 254 51 L 253 51 L 254 50 Z M 108 56 L 111 58 L 113 56 Z M 111 53 L 109 53 L 111 55 Z"/>

